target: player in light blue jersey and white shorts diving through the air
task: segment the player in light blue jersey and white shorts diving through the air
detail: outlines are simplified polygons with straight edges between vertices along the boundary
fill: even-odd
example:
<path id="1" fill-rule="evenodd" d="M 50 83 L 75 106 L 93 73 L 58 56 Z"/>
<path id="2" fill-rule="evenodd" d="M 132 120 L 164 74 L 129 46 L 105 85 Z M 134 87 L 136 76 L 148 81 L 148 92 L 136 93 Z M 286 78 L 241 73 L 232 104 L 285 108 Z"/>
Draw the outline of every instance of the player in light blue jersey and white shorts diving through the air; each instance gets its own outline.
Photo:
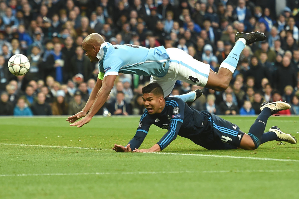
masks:
<path id="1" fill-rule="evenodd" d="M 68 117 L 67 121 L 72 123 L 70 126 L 82 127 L 87 124 L 107 100 L 119 73 L 151 75 L 150 83 L 158 83 L 164 97 L 170 94 L 177 80 L 216 91 L 225 90 L 245 46 L 265 39 L 266 36 L 258 32 L 237 33 L 234 48 L 216 73 L 210 69 L 209 64 L 193 59 L 178 48 L 165 49 L 159 46 L 148 49 L 135 45 L 112 45 L 99 34 L 92 33 L 83 40 L 82 48 L 91 62 L 99 62 L 100 72 L 85 107 Z M 190 99 L 193 101 L 196 93 L 179 97 L 185 102 Z M 84 118 L 77 121 L 81 117 Z"/>

